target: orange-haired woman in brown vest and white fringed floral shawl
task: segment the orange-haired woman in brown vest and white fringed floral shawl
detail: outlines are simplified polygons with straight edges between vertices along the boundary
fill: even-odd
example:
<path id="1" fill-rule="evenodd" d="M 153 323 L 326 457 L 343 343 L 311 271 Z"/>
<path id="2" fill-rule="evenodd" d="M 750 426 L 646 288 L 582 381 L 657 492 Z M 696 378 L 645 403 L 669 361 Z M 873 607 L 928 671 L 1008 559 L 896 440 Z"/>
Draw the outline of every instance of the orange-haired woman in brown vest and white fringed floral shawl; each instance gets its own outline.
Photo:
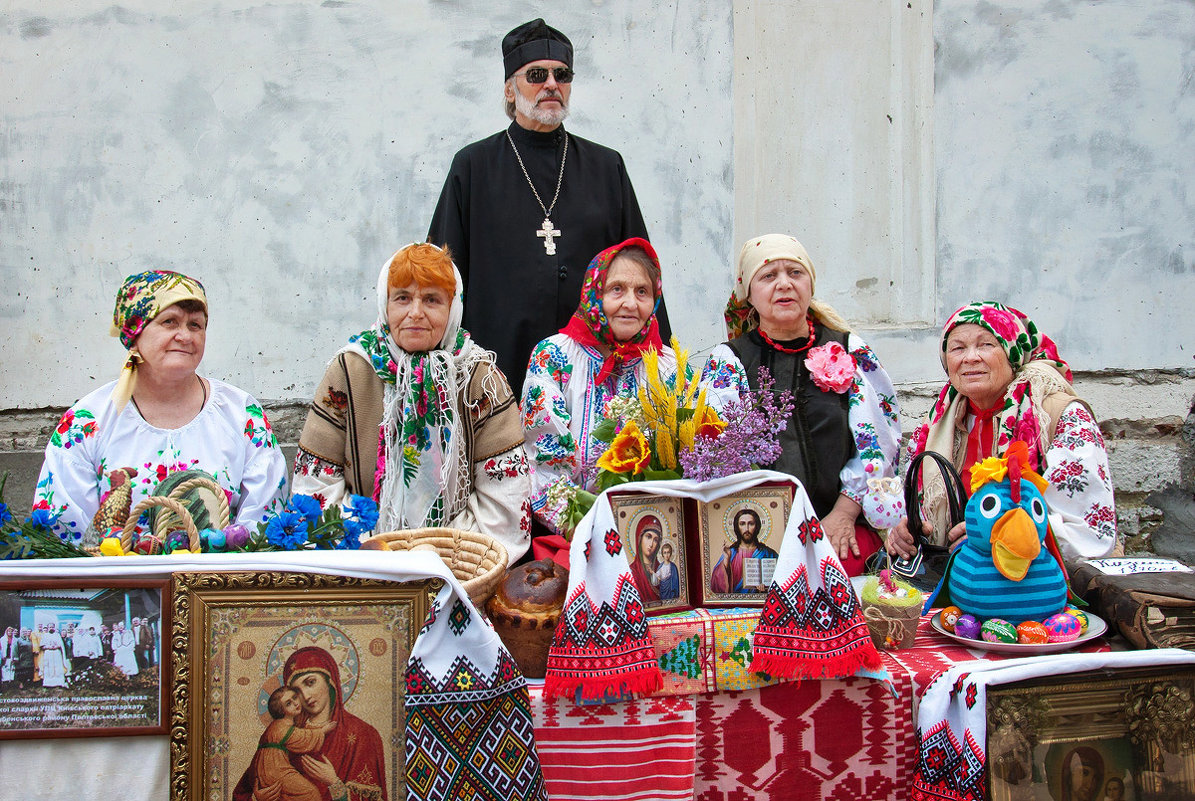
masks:
<path id="1" fill-rule="evenodd" d="M 378 322 L 349 340 L 315 389 L 293 488 L 378 502 L 378 531 L 490 534 L 514 563 L 531 512 L 519 406 L 494 354 L 460 328 L 447 250 L 411 244 L 378 275 Z"/>

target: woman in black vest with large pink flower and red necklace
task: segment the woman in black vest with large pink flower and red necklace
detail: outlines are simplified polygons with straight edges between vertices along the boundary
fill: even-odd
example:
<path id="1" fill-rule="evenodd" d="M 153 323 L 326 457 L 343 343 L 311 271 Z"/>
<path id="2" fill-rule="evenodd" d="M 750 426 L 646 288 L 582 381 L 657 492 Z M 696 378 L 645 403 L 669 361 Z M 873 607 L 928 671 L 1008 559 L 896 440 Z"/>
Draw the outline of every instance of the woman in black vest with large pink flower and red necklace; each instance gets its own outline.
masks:
<path id="1" fill-rule="evenodd" d="M 760 466 L 801 479 L 842 567 L 859 575 L 881 548 L 862 513 L 868 481 L 895 475 L 896 391 L 871 348 L 814 298 L 815 280 L 809 253 L 792 237 L 748 240 L 727 302 L 730 341 L 710 354 L 703 379 L 716 396 L 737 397 L 758 390 L 767 369 L 776 391 L 792 391 L 780 458 Z"/>

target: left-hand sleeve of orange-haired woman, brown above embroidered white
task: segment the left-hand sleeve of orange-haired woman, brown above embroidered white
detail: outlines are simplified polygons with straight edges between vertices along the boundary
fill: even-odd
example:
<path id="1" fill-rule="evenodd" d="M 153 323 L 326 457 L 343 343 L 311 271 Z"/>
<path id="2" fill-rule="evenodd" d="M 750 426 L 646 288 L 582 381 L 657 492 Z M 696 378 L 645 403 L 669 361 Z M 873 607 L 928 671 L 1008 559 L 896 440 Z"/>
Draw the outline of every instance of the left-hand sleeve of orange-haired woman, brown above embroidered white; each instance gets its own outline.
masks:
<path id="1" fill-rule="evenodd" d="M 290 491 L 295 495 L 318 495 L 325 505 L 348 500 L 344 479 L 348 386 L 344 369 L 339 361 L 333 361 L 315 387 L 299 435 L 299 452 L 290 477 Z"/>

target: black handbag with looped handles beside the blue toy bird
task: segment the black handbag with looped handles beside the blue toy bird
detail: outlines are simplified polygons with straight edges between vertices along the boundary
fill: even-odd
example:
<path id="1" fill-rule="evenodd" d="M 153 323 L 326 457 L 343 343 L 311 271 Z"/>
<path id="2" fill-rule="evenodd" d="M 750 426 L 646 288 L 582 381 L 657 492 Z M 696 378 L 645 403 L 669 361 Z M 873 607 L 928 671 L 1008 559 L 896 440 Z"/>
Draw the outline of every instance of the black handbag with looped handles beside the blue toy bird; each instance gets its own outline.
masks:
<path id="1" fill-rule="evenodd" d="M 946 485 L 946 503 L 950 512 L 950 528 L 963 521 L 963 509 L 967 506 L 967 494 L 963 493 L 963 481 L 950 460 L 934 451 L 921 451 L 908 465 L 905 477 L 905 510 L 908 513 L 908 531 L 913 534 L 914 551 L 909 557 L 891 558 L 888 551 L 881 549 L 868 564 L 869 573 L 878 573 L 887 567 L 895 579 L 913 585 L 923 592 L 933 592 L 950 561 L 950 548 L 931 545 L 921 530 L 921 505 L 918 500 L 918 481 L 921 463 L 929 457 L 942 472 Z M 949 528 L 948 528 L 949 531 Z"/>

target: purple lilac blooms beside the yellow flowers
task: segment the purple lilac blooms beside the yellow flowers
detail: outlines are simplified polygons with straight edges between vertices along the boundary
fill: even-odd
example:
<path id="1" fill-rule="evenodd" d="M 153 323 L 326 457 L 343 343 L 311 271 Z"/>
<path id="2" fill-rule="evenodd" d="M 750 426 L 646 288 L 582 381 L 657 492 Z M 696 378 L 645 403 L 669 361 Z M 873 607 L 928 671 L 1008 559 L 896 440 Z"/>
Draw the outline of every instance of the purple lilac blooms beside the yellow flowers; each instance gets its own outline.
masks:
<path id="1" fill-rule="evenodd" d="M 780 457 L 780 432 L 792 414 L 790 390 L 774 391 L 766 367 L 759 368 L 759 389 L 743 392 L 722 410 L 727 427 L 716 435 L 698 435 L 679 459 L 685 478 L 711 481 L 755 470 Z"/>

